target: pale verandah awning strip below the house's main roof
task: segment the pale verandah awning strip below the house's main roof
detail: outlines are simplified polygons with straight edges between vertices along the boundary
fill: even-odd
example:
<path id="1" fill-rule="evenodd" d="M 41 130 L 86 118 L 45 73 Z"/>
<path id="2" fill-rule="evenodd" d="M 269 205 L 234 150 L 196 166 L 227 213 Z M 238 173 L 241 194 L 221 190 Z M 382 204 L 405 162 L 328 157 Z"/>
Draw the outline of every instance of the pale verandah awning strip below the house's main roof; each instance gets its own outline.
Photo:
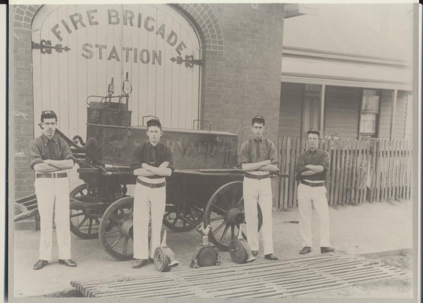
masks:
<path id="1" fill-rule="evenodd" d="M 412 69 L 402 61 L 286 47 L 281 82 L 412 90 Z"/>

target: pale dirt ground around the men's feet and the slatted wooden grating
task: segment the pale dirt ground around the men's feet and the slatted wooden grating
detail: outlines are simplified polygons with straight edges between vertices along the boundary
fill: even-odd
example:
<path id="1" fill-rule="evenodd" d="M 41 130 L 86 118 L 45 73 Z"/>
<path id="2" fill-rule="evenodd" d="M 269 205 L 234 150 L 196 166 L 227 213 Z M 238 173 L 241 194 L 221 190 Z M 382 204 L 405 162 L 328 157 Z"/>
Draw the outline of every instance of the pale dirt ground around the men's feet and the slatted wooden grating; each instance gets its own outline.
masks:
<path id="1" fill-rule="evenodd" d="M 412 276 L 412 201 L 396 201 L 360 206 L 330 207 L 331 246 L 352 254 L 376 253 L 372 258 L 387 265 L 396 266 Z M 298 210 L 275 210 L 273 213 L 274 253 L 280 258 L 298 258 L 301 240 L 298 230 Z M 319 220 L 313 211 L 313 249 L 319 250 Z M 163 229 L 165 227 L 163 226 Z M 53 232 L 55 238 L 55 232 Z M 261 239 L 261 235 L 260 235 Z M 79 296 L 71 288 L 70 281 L 87 281 L 103 278 L 120 278 L 145 273 L 155 273 L 154 264 L 133 269 L 134 261 L 117 261 L 109 256 L 96 240 L 82 240 L 72 235 L 72 259 L 78 263 L 70 268 L 58 264 L 57 245 L 53 243 L 53 259 L 41 270 L 33 270 L 38 260 L 39 231 L 14 231 L 14 255 L 9 262 L 14 265 L 13 291 L 10 297 L 60 297 Z M 192 252 L 201 241 L 196 231 L 176 233 L 168 231 L 167 244 L 176 259 L 181 262 L 172 271 L 186 270 L 191 263 Z M 377 252 L 404 250 L 398 256 L 384 256 Z M 310 255 L 308 254 L 308 256 Z M 222 266 L 234 264 L 227 252 L 220 252 Z M 391 258 L 391 259 L 390 259 Z M 261 243 L 259 261 L 264 261 Z M 193 271 L 195 269 L 192 269 Z M 10 272 L 9 272 L 10 273 Z M 55 293 L 55 295 L 52 295 Z M 68 295 L 66 295 L 68 294 Z M 374 281 L 336 289 L 329 292 L 313 293 L 301 297 L 412 297 L 412 280 L 393 279 Z"/>

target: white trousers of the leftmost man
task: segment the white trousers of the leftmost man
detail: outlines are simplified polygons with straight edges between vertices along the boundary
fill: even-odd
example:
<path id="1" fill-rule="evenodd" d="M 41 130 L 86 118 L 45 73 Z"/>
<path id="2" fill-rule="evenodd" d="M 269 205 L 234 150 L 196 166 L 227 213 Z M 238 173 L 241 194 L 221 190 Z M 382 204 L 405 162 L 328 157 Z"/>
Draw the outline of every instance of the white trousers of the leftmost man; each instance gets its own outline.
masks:
<path id="1" fill-rule="evenodd" d="M 71 259 L 68 178 L 36 178 L 34 187 L 40 214 L 39 259 L 52 258 L 53 209 L 59 259 Z"/>

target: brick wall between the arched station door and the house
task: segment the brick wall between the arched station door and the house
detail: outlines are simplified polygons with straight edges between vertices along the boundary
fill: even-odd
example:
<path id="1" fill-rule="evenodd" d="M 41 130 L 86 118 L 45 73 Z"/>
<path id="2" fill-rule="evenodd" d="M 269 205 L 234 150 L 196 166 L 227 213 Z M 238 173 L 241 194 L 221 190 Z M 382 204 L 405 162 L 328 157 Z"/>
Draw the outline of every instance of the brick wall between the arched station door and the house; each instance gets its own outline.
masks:
<path id="1" fill-rule="evenodd" d="M 277 142 L 282 64 L 281 4 L 210 4 L 219 19 L 224 51 L 206 50 L 202 89 L 204 119 L 213 129 L 251 134 L 251 118 L 268 121 L 265 136 Z"/>

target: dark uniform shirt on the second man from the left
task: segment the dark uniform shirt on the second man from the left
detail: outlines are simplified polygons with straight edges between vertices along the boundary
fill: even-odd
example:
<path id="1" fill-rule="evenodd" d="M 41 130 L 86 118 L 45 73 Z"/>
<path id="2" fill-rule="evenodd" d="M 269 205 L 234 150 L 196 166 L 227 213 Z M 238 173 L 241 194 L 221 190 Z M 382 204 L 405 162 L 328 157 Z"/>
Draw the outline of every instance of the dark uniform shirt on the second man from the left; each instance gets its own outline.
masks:
<path id="1" fill-rule="evenodd" d="M 153 149 L 156 150 L 156 162 L 153 163 Z M 159 167 L 160 164 L 163 162 L 168 161 L 169 165 L 168 168 L 170 168 L 173 171 L 173 156 L 172 152 L 168 148 L 168 146 L 165 146 L 165 144 L 157 143 L 156 146 L 151 145 L 150 141 L 143 143 L 134 151 L 134 156 L 132 157 L 131 162 L 131 169 L 132 171 L 135 171 L 137 168 L 141 168 L 141 164 L 147 163 L 148 165 Z M 150 179 L 158 179 L 163 178 L 163 176 L 147 176 L 147 178 Z"/>

